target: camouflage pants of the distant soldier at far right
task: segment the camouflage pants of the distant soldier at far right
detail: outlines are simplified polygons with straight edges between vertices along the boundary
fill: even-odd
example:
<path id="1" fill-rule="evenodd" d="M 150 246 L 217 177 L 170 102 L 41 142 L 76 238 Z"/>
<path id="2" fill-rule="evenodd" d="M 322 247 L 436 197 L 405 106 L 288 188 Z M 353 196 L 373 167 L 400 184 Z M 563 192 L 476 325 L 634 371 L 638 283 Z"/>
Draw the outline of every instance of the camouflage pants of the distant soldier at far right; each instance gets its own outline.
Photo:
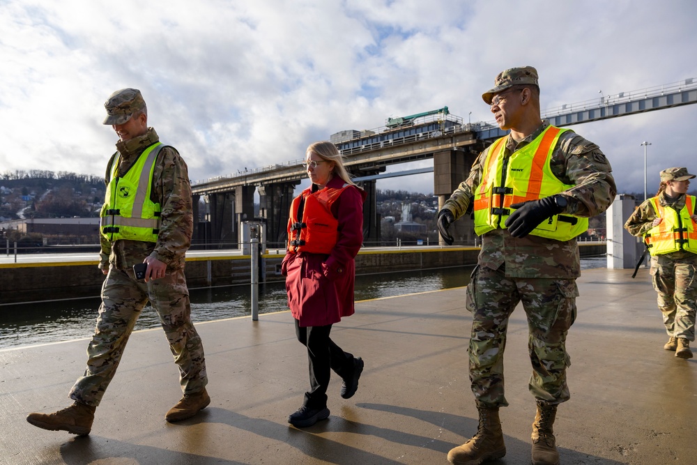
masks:
<path id="1" fill-rule="evenodd" d="M 697 255 L 687 259 L 671 259 L 668 255 L 653 257 L 651 275 L 658 293 L 658 307 L 663 314 L 666 333 L 673 337 L 695 340 L 697 311 Z"/>

